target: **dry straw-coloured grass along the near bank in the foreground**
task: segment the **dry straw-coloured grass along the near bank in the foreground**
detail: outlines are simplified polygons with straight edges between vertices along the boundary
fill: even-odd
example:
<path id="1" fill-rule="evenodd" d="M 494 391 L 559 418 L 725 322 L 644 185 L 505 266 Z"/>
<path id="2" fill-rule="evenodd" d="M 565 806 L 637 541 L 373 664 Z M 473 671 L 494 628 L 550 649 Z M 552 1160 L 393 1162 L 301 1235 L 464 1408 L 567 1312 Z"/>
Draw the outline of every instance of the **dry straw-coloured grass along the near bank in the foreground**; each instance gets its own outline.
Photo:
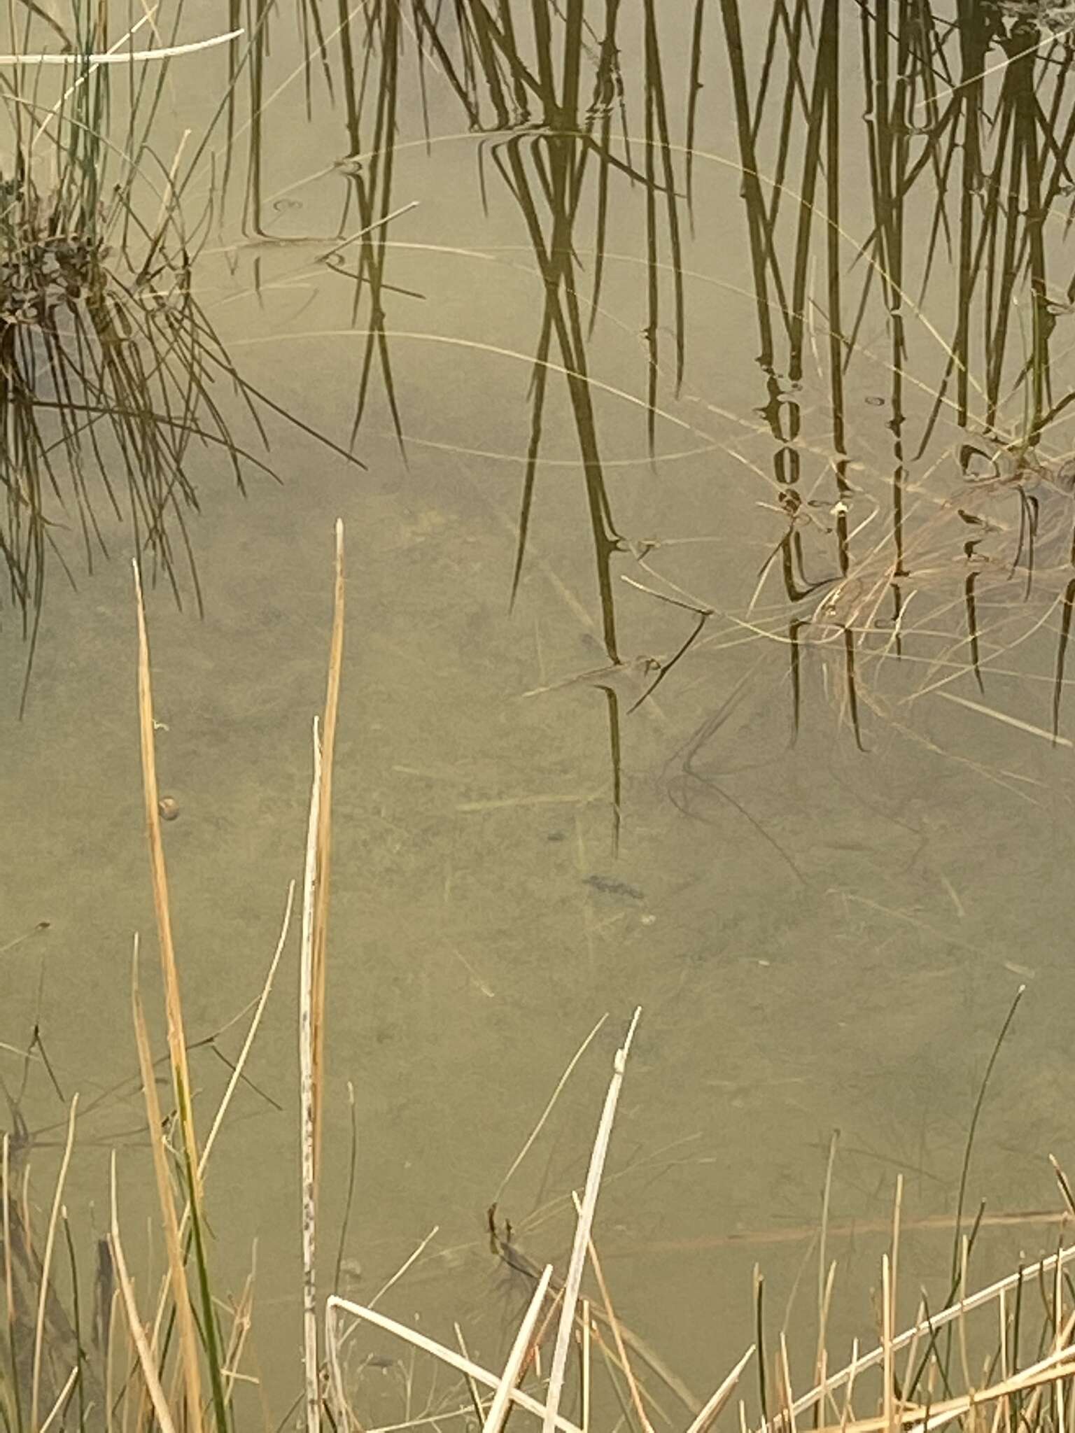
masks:
<path id="1" fill-rule="evenodd" d="M 228 1433 L 239 1424 L 236 1389 L 251 1374 L 244 1357 L 251 1327 L 252 1287 L 232 1301 L 214 1293 L 214 1250 L 206 1209 L 206 1182 L 212 1148 L 224 1126 L 231 1098 L 257 1036 L 265 1002 L 284 950 L 294 897 L 288 894 L 280 941 L 261 996 L 251 1015 L 241 1055 L 225 1095 L 199 1144 L 181 997 L 179 963 L 171 936 L 165 850 L 158 815 L 153 757 L 153 714 L 149 682 L 149 645 L 136 573 L 138 694 L 142 731 L 142 770 L 149 837 L 150 873 L 158 919 L 168 1059 L 172 1080 L 172 1113 L 162 1116 L 156 1062 L 152 1055 L 139 993 L 139 952 L 133 963 L 133 1023 L 156 1195 L 165 1232 L 168 1265 L 156 1290 L 138 1283 L 125 1251 L 115 1155 L 112 1161 L 110 1219 L 108 1238 L 97 1251 L 93 1298 L 79 1284 L 79 1260 L 69 1228 L 64 1184 L 75 1151 L 77 1098 L 70 1102 L 66 1139 L 52 1192 L 43 1238 L 34 1231 L 30 1188 L 30 1141 L 16 1121 L 0 1145 L 0 1241 L 6 1330 L 0 1344 L 0 1423 L 7 1433 L 44 1433 L 47 1429 L 123 1429 L 125 1433 L 188 1433 L 216 1427 Z M 956 1221 L 956 1257 L 949 1295 L 930 1310 L 924 1295 L 913 1324 L 900 1331 L 902 1184 L 897 1182 L 889 1251 L 880 1270 L 879 1337 L 871 1346 L 854 1344 L 851 1358 L 833 1369 L 827 1350 L 836 1264 L 826 1261 L 828 1199 L 824 1201 L 817 1295 L 817 1353 L 811 1386 L 797 1391 L 791 1380 L 787 1336 L 765 1348 L 763 1283 L 757 1278 L 755 1340 L 712 1391 L 697 1397 L 638 1334 L 618 1318 L 596 1250 L 596 1208 L 616 1105 L 629 1078 L 629 1053 L 641 1012 L 635 1012 L 616 1050 L 605 1105 L 596 1126 L 589 1169 L 576 1198 L 576 1224 L 570 1255 L 560 1274 L 552 1264 L 532 1264 L 512 1242 L 512 1231 L 489 1211 L 494 1251 L 530 1284 L 525 1314 L 502 1369 L 472 1358 L 466 1346 L 452 1348 L 383 1314 L 377 1300 L 361 1304 L 338 1293 L 325 1293 L 324 1261 L 318 1240 L 318 1129 L 325 1089 L 324 1045 L 320 1036 L 325 1002 L 325 923 L 330 870 L 328 813 L 331 808 L 331 734 L 343 659 L 344 566 L 343 529 L 337 529 L 335 620 L 330 655 L 324 721 L 314 724 L 314 762 L 310 797 L 307 860 L 302 877 L 301 919 L 301 1121 L 302 1121 L 302 1288 L 297 1301 L 304 1310 L 305 1383 L 300 1423 L 308 1433 L 367 1427 L 360 1401 L 361 1369 L 355 1376 L 355 1350 L 364 1330 L 401 1340 L 411 1357 L 427 1358 L 460 1379 L 457 1407 L 441 1404 L 404 1423 L 439 1426 L 470 1417 L 482 1433 L 499 1433 L 507 1417 L 539 1419 L 543 1433 L 589 1433 L 595 1426 L 654 1433 L 681 1427 L 702 1433 L 730 1409 L 741 1430 L 794 1433 L 797 1427 L 836 1433 L 927 1433 L 947 1424 L 989 1433 L 1068 1433 L 1075 1413 L 1075 1285 L 1069 1265 L 1075 1248 L 1062 1242 L 1052 1254 L 1019 1267 L 978 1291 L 970 1290 L 969 1264 L 982 1214 L 960 1234 Z M 324 737 L 321 735 L 324 732 Z M 1018 1002 L 1016 1002 L 1018 1003 Z M 1015 1007 L 1013 1007 L 1015 1009 Z M 1010 1016 L 1009 1016 L 1010 1020 Z M 1005 1030 L 1008 1022 L 1005 1023 Z M 592 1037 L 592 1036 L 591 1036 Z M 1003 1032 L 1000 1039 L 1003 1039 Z M 589 1043 L 589 1039 L 583 1043 Z M 999 1049 L 1000 1040 L 998 1040 Z M 579 1052 L 582 1053 L 582 1050 Z M 572 1062 L 573 1066 L 575 1062 Z M 992 1069 L 990 1062 L 990 1069 Z M 569 1073 L 569 1072 L 568 1072 Z M 565 1075 L 566 1079 L 566 1075 Z M 549 1115 L 563 1079 L 553 1093 L 530 1141 Z M 985 1093 L 985 1086 L 983 1086 Z M 979 1099 L 980 1105 L 980 1099 Z M 972 1131 L 973 1138 L 973 1131 Z M 970 1142 L 968 1149 L 970 1148 Z M 520 1155 L 522 1158 L 522 1155 Z M 1066 1178 L 1056 1166 L 1066 1219 L 1075 1204 Z M 831 1159 L 830 1159 L 831 1178 Z M 960 1198 L 962 1205 L 962 1198 Z M 1051 1218 L 1035 1215 L 1033 1218 Z M 913 1221 L 912 1221 L 913 1224 Z M 1064 1225 L 1062 1225 L 1064 1231 Z M 66 1264 L 62 1278 L 57 1265 Z M 408 1261 L 408 1264 L 413 1262 Z M 406 1267 L 401 1273 L 406 1273 Z M 62 1294 L 66 1288 L 67 1294 Z M 89 1305 L 93 1305 L 92 1308 Z M 744 1379 L 757 1373 L 757 1393 Z M 598 1370 L 606 1379 L 596 1380 Z M 612 1399 L 608 1397 L 612 1390 Z M 665 1407 L 671 1391 L 684 1406 L 677 1416 Z"/>

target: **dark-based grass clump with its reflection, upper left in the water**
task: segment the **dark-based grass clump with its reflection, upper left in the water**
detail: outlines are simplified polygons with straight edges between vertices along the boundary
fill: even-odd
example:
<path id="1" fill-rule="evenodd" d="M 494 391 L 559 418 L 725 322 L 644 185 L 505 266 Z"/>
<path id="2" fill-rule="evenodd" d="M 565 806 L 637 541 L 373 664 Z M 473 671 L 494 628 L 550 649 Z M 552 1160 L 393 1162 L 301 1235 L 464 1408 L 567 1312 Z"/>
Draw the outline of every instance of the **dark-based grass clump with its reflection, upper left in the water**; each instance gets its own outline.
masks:
<path id="1" fill-rule="evenodd" d="M 169 66 L 241 32 L 183 46 L 156 32 L 145 50 L 146 17 L 116 37 L 106 7 L 76 6 L 73 37 L 59 27 L 66 53 L 50 37 L 40 56 L 36 14 L 0 87 L 0 615 L 20 620 L 30 658 L 46 575 L 57 565 L 73 582 L 72 532 L 92 570 L 126 524 L 148 577 L 176 602 L 189 585 L 201 609 L 196 464 L 216 454 L 245 490 L 271 467 L 238 420 L 265 447 L 268 410 L 304 427 L 242 378 L 196 294 L 212 176 L 194 231 L 181 198 L 215 120 L 183 175 L 189 133 L 172 156 L 156 148 Z"/>

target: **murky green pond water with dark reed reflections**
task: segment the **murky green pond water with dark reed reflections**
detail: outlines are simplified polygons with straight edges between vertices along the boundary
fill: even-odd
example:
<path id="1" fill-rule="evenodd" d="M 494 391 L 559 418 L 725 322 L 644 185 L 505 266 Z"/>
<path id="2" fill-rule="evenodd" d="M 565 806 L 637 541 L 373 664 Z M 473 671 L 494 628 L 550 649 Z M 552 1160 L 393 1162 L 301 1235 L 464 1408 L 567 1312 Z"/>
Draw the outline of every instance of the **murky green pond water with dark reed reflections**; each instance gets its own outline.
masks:
<path id="1" fill-rule="evenodd" d="M 185 17 L 183 37 L 226 27 L 209 9 Z M 529 7 L 507 9 L 530 53 Z M 186 224 L 201 225 L 198 299 L 284 414 L 351 441 L 377 327 L 368 282 L 355 297 L 360 255 L 380 275 L 387 334 L 354 437 L 364 467 L 278 413 L 261 451 L 280 483 L 251 470 L 242 497 L 218 450 L 186 460 L 205 613 L 189 579 L 182 610 L 162 580 L 149 623 L 161 781 L 179 807 L 165 835 L 188 1032 L 222 1032 L 215 1046 L 235 1058 L 229 1022 L 261 987 L 301 874 L 341 516 L 328 1242 L 350 1082 L 347 1291 L 373 1294 L 436 1225 L 386 1308 L 447 1341 L 460 1318 L 479 1356 L 494 1357 L 516 1314 L 484 1211 L 603 1013 L 500 1209 L 533 1257 L 565 1258 L 568 1195 L 641 1006 L 599 1247 L 625 1323 L 699 1394 L 750 1341 L 755 1262 L 771 1277 L 774 1328 L 800 1277 L 796 1307 L 813 1317 L 806 1231 L 834 1129 L 834 1222 L 887 1218 L 902 1169 L 909 1283 L 943 1275 L 950 1230 L 913 1221 L 955 1211 L 975 1098 L 1021 983 L 968 1208 L 1059 1207 L 1046 1156 L 1071 1148 L 1075 997 L 1072 718 L 1059 701 L 1071 53 L 1066 34 L 1012 14 L 998 13 L 1006 37 L 982 47 L 982 16 L 960 32 L 947 29 L 956 7 L 882 9 L 765 0 L 737 17 L 731 0 L 702 4 L 694 112 L 695 11 L 652 17 L 658 87 L 646 6 L 624 6 L 631 150 L 613 103 L 606 189 L 601 143 L 576 135 L 603 7 L 586 7 L 576 118 L 553 138 L 532 93 L 527 128 L 497 128 L 480 80 L 484 130 L 473 129 L 443 56 L 427 54 L 426 140 L 404 26 L 390 181 L 370 153 L 380 52 L 358 146 L 373 218 L 403 212 L 376 229 L 383 248 L 355 241 L 328 262 L 370 219 L 338 163 L 351 148 L 338 19 L 325 14 L 334 105 L 314 63 L 307 115 L 301 34 L 278 14 L 259 143 L 271 238 L 241 222 L 245 89 L 229 202 L 202 222 L 222 181 L 219 128 L 183 195 Z M 548 11 L 558 47 L 566 11 Z M 459 63 L 457 21 L 440 30 Z M 47 47 L 47 32 L 33 34 Z M 361 53 L 357 17 L 353 39 Z M 194 152 L 226 53 L 173 62 L 155 129 L 165 171 L 188 128 Z M 965 76 L 983 67 L 978 96 Z M 995 120 L 973 130 L 985 179 L 963 168 L 969 96 Z M 535 391 L 539 460 L 512 602 Z M 214 397 L 254 447 L 226 380 Z M 985 481 L 965 476 L 965 446 L 979 451 L 963 467 Z M 0 1040 L 24 1049 L 37 1027 L 59 1089 L 40 1060 L 23 1086 L 9 1048 L 0 1072 L 39 1131 L 43 1204 L 49 1151 L 80 1092 L 67 1202 L 87 1230 L 105 1227 L 118 1146 L 138 1245 L 152 1191 L 132 1080 L 133 931 L 148 954 L 155 944 L 130 524 L 100 504 L 112 560 L 87 576 L 70 506 L 49 512 L 76 586 L 50 557 L 22 719 L 26 645 L 6 612 L 0 946 L 50 924 L 0 953 Z M 155 959 L 143 970 L 158 1002 Z M 257 1241 L 247 1371 L 269 1424 L 300 1384 L 297 979 L 292 934 L 209 1176 L 229 1290 Z M 228 1066 L 209 1045 L 192 1060 L 208 1121 Z M 1051 1238 L 1008 1231 L 986 1245 L 983 1273 Z M 880 1242 L 830 1242 L 834 1344 L 871 1328 Z M 811 1338 L 796 1348 L 801 1383 Z M 397 1394 L 386 1370 L 368 1397 L 387 1407 Z"/>

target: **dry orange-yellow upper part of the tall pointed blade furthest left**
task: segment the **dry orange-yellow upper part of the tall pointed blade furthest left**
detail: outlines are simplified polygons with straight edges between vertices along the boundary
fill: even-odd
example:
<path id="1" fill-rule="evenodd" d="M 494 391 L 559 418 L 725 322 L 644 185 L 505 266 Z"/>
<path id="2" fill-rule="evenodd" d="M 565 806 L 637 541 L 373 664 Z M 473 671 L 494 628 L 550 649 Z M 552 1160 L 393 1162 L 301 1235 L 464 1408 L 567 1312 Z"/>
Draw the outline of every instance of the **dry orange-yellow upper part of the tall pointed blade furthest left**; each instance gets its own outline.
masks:
<path id="1" fill-rule="evenodd" d="M 142 600 L 142 576 L 135 569 L 135 592 L 138 596 L 138 718 L 142 737 L 142 790 L 145 794 L 146 835 L 149 840 L 149 867 L 153 878 L 153 909 L 161 943 L 161 966 L 165 977 L 165 1010 L 168 1015 L 168 1053 L 175 1086 L 175 1108 L 179 1118 L 179 1132 L 186 1155 L 191 1179 L 191 1197 L 202 1207 L 202 1179 L 198 1159 L 198 1144 L 194 1132 L 194 1111 L 191 1108 L 191 1073 L 186 1065 L 186 1039 L 183 1035 L 183 1012 L 179 1000 L 179 974 L 172 944 L 172 919 L 168 906 L 168 873 L 165 870 L 165 848 L 161 840 L 161 808 L 156 785 L 156 748 L 153 742 L 153 696 L 149 684 L 149 638 L 146 636 L 146 612 Z"/>

